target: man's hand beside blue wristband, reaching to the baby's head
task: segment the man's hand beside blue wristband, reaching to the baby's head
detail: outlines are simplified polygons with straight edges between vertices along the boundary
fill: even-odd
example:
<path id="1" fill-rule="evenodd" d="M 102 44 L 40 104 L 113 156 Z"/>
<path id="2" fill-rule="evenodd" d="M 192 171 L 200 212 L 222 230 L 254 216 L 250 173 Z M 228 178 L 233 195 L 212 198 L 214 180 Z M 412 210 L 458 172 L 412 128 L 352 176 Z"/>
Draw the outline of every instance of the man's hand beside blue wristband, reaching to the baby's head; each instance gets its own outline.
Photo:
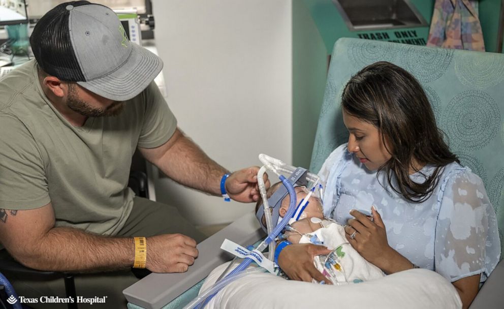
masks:
<path id="1" fill-rule="evenodd" d="M 230 198 L 237 202 L 250 203 L 259 199 L 259 187 L 257 185 L 258 166 L 249 167 L 232 173 L 226 179 L 226 191 Z M 268 175 L 263 176 L 266 190 L 270 186 Z"/>

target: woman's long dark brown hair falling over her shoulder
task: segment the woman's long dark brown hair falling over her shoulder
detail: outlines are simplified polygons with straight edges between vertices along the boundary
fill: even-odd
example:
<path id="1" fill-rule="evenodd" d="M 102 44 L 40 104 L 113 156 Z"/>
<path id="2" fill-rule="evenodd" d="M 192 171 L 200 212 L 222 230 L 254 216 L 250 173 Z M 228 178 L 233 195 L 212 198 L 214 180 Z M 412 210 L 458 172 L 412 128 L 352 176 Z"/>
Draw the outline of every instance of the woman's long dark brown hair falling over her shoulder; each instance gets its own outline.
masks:
<path id="1" fill-rule="evenodd" d="M 346 84 L 341 106 L 348 114 L 374 125 L 392 157 L 379 168 L 392 189 L 411 202 L 427 200 L 444 167 L 459 162 L 443 140 L 420 83 L 404 69 L 382 61 L 365 67 Z M 387 143 L 385 143 L 385 137 Z M 435 167 L 425 181 L 409 178 L 413 160 Z M 392 177 L 397 177 L 394 186 Z"/>

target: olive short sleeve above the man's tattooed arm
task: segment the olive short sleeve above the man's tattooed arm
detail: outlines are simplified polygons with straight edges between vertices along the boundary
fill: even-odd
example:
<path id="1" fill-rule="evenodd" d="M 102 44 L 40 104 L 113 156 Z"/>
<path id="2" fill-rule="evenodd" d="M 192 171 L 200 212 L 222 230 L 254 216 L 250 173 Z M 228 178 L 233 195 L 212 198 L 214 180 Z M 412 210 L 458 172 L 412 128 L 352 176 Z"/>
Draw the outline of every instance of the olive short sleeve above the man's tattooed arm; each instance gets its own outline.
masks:
<path id="1" fill-rule="evenodd" d="M 0 208 L 33 209 L 50 202 L 39 148 L 23 123 L 0 114 Z"/>

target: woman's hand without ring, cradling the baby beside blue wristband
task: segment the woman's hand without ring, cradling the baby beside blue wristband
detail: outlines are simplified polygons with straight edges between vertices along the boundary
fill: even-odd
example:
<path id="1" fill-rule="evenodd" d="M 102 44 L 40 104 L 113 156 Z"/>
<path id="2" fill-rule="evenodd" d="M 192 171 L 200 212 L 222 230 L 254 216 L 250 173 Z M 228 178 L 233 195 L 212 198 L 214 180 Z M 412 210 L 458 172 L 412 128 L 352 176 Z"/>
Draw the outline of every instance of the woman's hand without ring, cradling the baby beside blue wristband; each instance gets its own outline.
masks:
<path id="1" fill-rule="evenodd" d="M 322 245 L 312 243 L 290 244 L 280 252 L 278 264 L 292 280 L 311 282 L 311 279 L 315 279 L 318 282 L 325 281 L 326 284 L 331 284 L 313 265 L 315 256 L 327 255 L 330 252 L 331 250 Z"/>

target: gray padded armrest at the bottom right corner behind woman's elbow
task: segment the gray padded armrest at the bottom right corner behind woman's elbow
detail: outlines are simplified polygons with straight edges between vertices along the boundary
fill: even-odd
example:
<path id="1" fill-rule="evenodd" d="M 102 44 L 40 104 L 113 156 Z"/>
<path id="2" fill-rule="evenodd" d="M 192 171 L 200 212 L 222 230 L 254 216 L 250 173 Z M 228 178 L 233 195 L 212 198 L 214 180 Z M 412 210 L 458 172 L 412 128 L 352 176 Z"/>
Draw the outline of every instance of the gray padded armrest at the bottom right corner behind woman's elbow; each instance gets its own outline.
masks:
<path id="1" fill-rule="evenodd" d="M 504 308 L 504 297 L 502 297 L 502 287 L 504 286 L 504 261 L 495 267 L 487 281 L 481 287 L 480 292 L 472 301 L 469 309 L 502 309 Z"/>

